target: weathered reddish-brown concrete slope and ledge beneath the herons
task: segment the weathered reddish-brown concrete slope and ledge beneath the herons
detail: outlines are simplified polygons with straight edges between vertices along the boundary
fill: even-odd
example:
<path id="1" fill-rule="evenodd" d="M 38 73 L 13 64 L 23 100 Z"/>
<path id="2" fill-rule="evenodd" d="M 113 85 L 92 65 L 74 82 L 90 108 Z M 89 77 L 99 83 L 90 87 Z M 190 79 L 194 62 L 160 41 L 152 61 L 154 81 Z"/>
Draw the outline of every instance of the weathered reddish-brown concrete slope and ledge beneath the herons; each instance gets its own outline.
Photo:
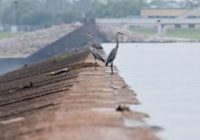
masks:
<path id="1" fill-rule="evenodd" d="M 133 91 L 88 51 L 56 57 L 0 78 L 1 140 L 157 140 Z M 68 72 L 50 75 L 62 68 Z M 32 82 L 32 84 L 30 84 Z"/>

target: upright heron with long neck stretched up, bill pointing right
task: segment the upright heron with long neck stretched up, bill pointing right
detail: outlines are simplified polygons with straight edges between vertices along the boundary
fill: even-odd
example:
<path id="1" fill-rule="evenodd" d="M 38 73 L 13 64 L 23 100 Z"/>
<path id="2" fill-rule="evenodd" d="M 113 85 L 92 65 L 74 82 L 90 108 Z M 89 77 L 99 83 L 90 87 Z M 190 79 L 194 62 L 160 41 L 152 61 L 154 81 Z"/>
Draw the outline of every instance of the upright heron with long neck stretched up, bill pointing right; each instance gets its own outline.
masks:
<path id="1" fill-rule="evenodd" d="M 117 42 L 116 47 L 111 50 L 106 60 L 106 67 L 108 66 L 108 64 L 111 64 L 111 74 L 113 74 L 113 61 L 115 60 L 119 47 L 119 39 L 118 39 L 119 35 L 125 35 L 125 34 L 121 32 L 116 33 L 116 42 Z"/>

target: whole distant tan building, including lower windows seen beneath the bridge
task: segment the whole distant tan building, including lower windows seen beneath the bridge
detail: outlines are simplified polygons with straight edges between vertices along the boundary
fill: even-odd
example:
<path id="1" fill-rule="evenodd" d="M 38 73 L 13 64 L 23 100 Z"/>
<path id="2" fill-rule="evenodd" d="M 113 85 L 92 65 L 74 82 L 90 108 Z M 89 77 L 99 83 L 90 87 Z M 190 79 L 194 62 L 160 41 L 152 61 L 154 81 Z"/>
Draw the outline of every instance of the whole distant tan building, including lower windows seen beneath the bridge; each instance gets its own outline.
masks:
<path id="1" fill-rule="evenodd" d="M 200 28 L 200 9 L 186 8 L 143 8 L 141 10 L 143 19 L 167 20 L 181 19 L 182 23 L 165 24 L 160 23 L 164 28 Z"/>

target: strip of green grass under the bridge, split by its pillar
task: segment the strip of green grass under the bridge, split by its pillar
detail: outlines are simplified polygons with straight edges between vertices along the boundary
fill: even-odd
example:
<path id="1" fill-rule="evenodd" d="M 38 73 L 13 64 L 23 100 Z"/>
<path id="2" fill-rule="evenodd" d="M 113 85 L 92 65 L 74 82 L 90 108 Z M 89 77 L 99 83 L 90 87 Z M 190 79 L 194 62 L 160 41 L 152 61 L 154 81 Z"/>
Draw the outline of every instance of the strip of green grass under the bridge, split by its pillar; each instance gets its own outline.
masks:
<path id="1" fill-rule="evenodd" d="M 155 35 L 157 33 L 156 28 L 131 28 L 135 33 L 141 33 L 144 35 Z M 200 40 L 200 29 L 187 28 L 187 29 L 167 29 L 166 37 L 186 38 Z"/>

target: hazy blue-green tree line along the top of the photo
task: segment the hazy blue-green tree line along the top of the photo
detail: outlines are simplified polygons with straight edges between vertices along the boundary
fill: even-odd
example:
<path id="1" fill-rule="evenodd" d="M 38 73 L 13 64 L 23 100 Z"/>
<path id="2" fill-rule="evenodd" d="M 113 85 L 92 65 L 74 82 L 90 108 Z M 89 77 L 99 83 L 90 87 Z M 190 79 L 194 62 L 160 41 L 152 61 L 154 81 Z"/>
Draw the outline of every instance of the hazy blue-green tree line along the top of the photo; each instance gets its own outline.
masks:
<path id="1" fill-rule="evenodd" d="M 185 1 L 194 7 L 199 0 Z M 134 17 L 149 4 L 165 2 L 167 0 L 151 3 L 147 0 L 0 0 L 0 23 L 40 26 L 82 21 L 85 17 Z"/>

